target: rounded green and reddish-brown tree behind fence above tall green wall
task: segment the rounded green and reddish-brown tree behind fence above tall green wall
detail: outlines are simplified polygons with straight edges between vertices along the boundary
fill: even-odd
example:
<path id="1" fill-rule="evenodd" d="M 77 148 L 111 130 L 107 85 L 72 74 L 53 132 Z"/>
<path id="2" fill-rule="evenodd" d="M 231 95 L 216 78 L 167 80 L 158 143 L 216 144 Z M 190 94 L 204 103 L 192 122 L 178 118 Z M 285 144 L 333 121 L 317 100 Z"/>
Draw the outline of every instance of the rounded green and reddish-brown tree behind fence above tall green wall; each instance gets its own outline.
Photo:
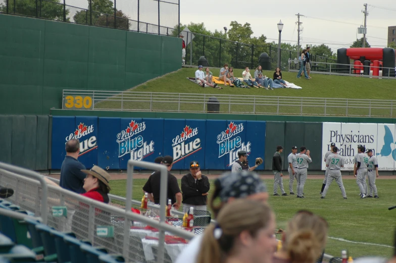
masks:
<path id="1" fill-rule="evenodd" d="M 95 26 L 106 26 L 114 28 L 114 6 L 111 0 L 91 0 L 91 6 L 88 1 L 88 10 L 76 12 L 73 19 L 78 24 L 90 24 Z M 92 18 L 90 15 L 92 14 Z M 116 9 L 116 28 L 128 29 L 129 17 L 121 10 Z"/>

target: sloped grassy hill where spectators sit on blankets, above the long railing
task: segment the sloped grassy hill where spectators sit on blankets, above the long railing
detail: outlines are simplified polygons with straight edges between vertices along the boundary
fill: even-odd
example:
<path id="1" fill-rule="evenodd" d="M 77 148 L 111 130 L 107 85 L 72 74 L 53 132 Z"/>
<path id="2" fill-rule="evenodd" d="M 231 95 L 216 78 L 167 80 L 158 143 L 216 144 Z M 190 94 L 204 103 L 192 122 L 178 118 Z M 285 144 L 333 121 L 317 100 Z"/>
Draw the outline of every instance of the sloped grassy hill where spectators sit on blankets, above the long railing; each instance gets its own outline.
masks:
<path id="1" fill-rule="evenodd" d="M 362 99 L 396 99 L 396 80 L 370 79 L 356 76 L 334 76 L 311 74 L 312 79 L 296 78 L 294 72 L 282 72 L 283 79 L 301 86 L 303 89 L 277 88 L 243 89 L 223 87 L 222 90 L 203 88 L 188 81 L 186 77 L 194 77 L 197 68 L 182 68 L 164 77 L 157 78 L 139 85 L 130 91 L 169 92 L 169 93 L 209 93 L 209 94 L 238 94 L 238 95 L 266 95 L 291 97 L 323 97 L 323 98 L 362 98 Z M 211 69 L 214 76 L 219 76 L 219 69 Z M 235 76 L 242 77 L 242 71 L 235 69 Z M 263 71 L 272 78 L 273 71 Z M 254 69 L 251 70 L 254 75 Z M 221 85 L 223 86 L 223 85 Z"/>

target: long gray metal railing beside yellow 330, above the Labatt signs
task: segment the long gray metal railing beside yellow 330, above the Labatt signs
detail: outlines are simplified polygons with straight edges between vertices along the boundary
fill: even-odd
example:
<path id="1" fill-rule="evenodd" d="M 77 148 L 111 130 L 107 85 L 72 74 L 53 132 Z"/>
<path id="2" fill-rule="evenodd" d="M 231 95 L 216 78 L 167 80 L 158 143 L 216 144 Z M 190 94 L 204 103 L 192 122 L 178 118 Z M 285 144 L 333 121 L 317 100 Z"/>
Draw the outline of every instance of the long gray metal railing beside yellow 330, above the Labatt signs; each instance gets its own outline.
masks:
<path id="1" fill-rule="evenodd" d="M 68 96 L 90 97 L 92 110 L 389 118 L 396 116 L 396 100 L 380 99 L 63 90 L 63 101 Z M 63 109 L 67 109 L 64 105 L 65 103 Z"/>

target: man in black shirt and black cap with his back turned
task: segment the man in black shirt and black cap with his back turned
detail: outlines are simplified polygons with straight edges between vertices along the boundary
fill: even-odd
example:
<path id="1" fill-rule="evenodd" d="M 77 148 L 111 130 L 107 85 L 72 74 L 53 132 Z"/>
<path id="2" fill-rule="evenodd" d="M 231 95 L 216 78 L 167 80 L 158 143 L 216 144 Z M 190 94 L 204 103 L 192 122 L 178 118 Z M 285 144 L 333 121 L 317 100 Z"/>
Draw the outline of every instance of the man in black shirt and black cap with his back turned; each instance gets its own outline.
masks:
<path id="1" fill-rule="evenodd" d="M 177 179 L 174 175 L 172 175 L 169 171 L 172 169 L 173 157 L 165 156 L 162 159 L 161 164 L 166 165 L 168 167 L 168 197 L 167 199 L 171 199 L 173 206 L 179 209 L 181 205 L 181 192 L 179 188 L 179 184 L 177 183 Z M 160 189 L 161 189 L 161 172 L 157 171 L 153 173 L 149 180 L 143 186 L 143 191 L 147 193 L 153 194 L 154 203 L 160 204 Z M 168 201 L 166 202 L 168 203 Z"/>

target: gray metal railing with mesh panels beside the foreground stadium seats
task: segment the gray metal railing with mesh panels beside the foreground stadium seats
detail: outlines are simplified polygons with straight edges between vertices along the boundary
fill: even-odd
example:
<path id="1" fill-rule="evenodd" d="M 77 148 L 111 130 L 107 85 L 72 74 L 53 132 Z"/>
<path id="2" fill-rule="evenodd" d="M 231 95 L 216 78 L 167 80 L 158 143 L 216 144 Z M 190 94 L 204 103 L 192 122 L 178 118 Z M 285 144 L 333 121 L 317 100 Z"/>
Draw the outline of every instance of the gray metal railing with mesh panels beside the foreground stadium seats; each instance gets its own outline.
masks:
<path id="1" fill-rule="evenodd" d="M 164 205 L 160 208 L 160 212 L 155 211 L 155 209 L 154 211 L 153 209 L 151 210 L 153 215 L 159 215 L 160 221 L 131 212 L 133 176 L 133 171 L 131 169 L 133 169 L 133 164 L 138 164 L 139 167 L 161 171 L 162 188 L 165 189 L 161 189 L 161 198 L 163 199 L 162 202 Z M 25 169 L 23 169 L 18 173 L 12 173 L 0 169 L 0 185 L 15 190 L 14 195 L 7 199 L 9 202 L 33 212 L 35 216 L 41 216 L 43 222 L 45 220 L 50 227 L 60 231 L 72 231 L 76 234 L 78 239 L 87 239 L 92 245 L 105 247 L 109 253 L 122 253 L 127 262 L 143 262 L 140 261 L 140 259 L 147 257 L 146 250 L 143 251 L 144 248 L 142 246 L 143 239 L 146 239 L 145 236 L 155 237 L 158 240 L 158 242 L 153 245 L 153 247 L 156 248 L 156 252 L 154 252 L 154 249 L 153 252 L 149 252 L 153 257 L 150 260 L 154 260 L 154 257 L 156 257 L 156 262 L 167 263 L 171 263 L 168 255 L 172 255 L 173 258 L 175 258 L 179 250 L 166 244 L 165 233 L 187 240 L 195 236 L 194 233 L 196 232 L 188 232 L 165 223 L 166 181 L 168 174 L 164 166 L 146 162 L 128 162 L 128 188 L 126 191 L 127 198 L 125 209 L 99 202 L 52 185 L 48 185 L 48 196 L 45 196 L 46 198 L 43 199 L 40 197 L 41 195 L 39 193 L 42 192 L 44 188 L 46 189 L 46 187 L 42 188 L 40 182 L 37 181 L 39 178 L 43 180 L 43 176 L 34 173 L 36 175 L 36 180 L 33 180 L 26 177 L 30 176 L 30 173 L 34 172 L 30 171 L 26 173 Z M 44 208 L 46 212 L 51 212 L 54 211 L 53 209 L 55 207 L 66 207 L 67 216 L 56 217 L 54 213 L 43 214 L 40 212 L 41 208 Z M 140 233 L 139 229 L 131 229 L 131 226 L 135 226 L 136 224 L 156 228 L 158 232 Z M 114 230 L 113 237 L 100 237 L 95 232 L 98 226 L 111 227 Z M 137 233 L 133 231 L 137 231 Z M 137 236 L 140 236 L 138 240 L 136 240 Z"/>

